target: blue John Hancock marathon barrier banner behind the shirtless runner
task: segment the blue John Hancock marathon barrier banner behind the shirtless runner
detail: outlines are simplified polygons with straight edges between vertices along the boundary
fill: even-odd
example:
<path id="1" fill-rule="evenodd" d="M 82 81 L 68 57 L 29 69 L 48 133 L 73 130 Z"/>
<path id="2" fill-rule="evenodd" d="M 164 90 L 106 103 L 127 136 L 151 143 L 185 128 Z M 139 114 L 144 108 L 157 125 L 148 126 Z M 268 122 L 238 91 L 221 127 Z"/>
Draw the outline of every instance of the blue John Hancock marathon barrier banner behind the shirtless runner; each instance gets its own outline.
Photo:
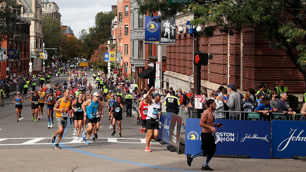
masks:
<path id="1" fill-rule="evenodd" d="M 200 119 L 186 119 L 185 155 L 201 151 Z M 271 158 L 271 122 L 216 119 L 222 123 L 217 134 L 222 144 L 217 143 L 215 154 L 248 155 L 249 158 Z"/>

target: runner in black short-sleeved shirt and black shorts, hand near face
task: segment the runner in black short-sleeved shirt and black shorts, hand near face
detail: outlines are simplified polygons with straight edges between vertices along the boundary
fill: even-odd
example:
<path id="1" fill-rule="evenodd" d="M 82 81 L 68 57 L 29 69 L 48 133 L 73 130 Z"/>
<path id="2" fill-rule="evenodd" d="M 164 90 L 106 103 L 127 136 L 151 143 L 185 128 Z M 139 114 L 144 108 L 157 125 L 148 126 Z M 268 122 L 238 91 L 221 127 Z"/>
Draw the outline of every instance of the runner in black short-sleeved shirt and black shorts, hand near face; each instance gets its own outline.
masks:
<path id="1" fill-rule="evenodd" d="M 121 95 L 117 96 L 117 101 L 113 103 L 113 107 L 111 108 L 111 112 L 113 112 L 113 133 L 111 136 L 114 136 L 116 134 L 116 121 L 118 121 L 118 129 L 119 129 L 119 137 L 122 137 L 121 135 L 121 120 L 122 120 L 122 108 L 124 108 L 123 104 L 121 104 Z"/>

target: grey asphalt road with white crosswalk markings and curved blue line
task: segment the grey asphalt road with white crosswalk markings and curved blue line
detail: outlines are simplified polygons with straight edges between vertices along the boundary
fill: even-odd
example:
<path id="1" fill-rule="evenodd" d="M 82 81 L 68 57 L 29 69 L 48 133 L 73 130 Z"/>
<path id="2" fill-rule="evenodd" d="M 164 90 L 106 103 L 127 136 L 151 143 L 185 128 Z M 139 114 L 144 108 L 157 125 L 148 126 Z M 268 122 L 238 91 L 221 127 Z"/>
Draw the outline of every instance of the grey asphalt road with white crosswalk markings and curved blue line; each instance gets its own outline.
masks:
<path id="1" fill-rule="evenodd" d="M 89 82 L 95 86 L 91 78 L 89 74 Z M 64 80 L 67 76 L 53 77 L 51 84 Z M 154 140 L 151 141 L 152 152 L 145 152 L 145 134 L 140 133 L 136 118 L 125 117 L 125 114 L 123 137 L 118 137 L 118 130 L 111 136 L 107 107 L 96 141 L 90 139 L 90 144 L 86 145 L 83 140 L 76 140 L 72 124 L 64 131 L 62 149 L 54 149 L 50 138 L 58 129 L 55 119 L 54 127 L 48 129 L 45 106 L 43 119 L 34 122 L 29 96 L 24 101 L 19 122 L 16 122 L 13 95 L 5 99 L 5 107 L 0 108 L 0 171 L 201 171 L 206 160 L 205 157 L 195 158 L 189 167 L 183 153 L 170 152 L 166 145 Z M 209 166 L 215 171 L 305 171 L 305 163 L 305 160 L 293 159 L 213 158 Z"/>

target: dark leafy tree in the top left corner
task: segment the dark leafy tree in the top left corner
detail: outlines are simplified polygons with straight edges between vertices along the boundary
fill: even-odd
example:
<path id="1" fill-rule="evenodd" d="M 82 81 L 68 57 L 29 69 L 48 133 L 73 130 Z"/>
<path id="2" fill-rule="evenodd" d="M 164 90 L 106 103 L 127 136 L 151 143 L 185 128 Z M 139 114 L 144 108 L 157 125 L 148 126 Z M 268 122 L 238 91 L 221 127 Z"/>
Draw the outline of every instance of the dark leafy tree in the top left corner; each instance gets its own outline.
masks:
<path id="1" fill-rule="evenodd" d="M 0 0 L 0 43 L 7 36 L 13 37 L 17 33 L 21 15 L 21 4 L 18 0 Z"/>

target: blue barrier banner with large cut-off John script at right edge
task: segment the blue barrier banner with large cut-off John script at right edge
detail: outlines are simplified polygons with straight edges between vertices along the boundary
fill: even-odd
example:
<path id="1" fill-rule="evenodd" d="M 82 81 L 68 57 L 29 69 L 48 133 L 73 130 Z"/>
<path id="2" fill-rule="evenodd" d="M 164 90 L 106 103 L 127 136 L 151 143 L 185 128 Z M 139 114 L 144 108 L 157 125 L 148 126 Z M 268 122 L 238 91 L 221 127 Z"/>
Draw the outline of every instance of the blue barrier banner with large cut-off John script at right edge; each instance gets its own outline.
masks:
<path id="1" fill-rule="evenodd" d="M 306 122 L 272 120 L 272 158 L 306 156 Z"/>

